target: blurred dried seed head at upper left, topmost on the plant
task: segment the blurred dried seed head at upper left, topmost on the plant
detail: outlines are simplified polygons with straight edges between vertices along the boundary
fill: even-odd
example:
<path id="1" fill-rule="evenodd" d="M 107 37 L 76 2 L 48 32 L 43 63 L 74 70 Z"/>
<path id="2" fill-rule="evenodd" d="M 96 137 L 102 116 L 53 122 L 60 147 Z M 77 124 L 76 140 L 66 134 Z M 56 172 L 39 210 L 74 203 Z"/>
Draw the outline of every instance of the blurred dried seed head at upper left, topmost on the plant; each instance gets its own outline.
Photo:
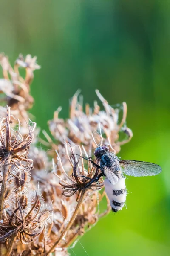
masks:
<path id="1" fill-rule="evenodd" d="M 33 71 L 40 69 L 36 63 L 37 57 L 27 55 L 23 58 L 20 55 L 15 62 L 14 68 L 11 67 L 8 58 L 0 54 L 0 65 L 3 69 L 4 79 L 0 79 L 0 92 L 3 93 L 0 101 L 2 105 L 11 107 L 11 112 L 23 123 L 25 120 L 28 122 L 29 116 L 27 110 L 33 105 L 34 99 L 29 94 L 30 84 L 34 78 Z M 22 77 L 19 72 L 19 67 L 25 68 L 26 76 Z M 5 104 L 4 104 L 5 103 Z M 1 108 L 2 116 L 5 115 L 5 108 Z"/>

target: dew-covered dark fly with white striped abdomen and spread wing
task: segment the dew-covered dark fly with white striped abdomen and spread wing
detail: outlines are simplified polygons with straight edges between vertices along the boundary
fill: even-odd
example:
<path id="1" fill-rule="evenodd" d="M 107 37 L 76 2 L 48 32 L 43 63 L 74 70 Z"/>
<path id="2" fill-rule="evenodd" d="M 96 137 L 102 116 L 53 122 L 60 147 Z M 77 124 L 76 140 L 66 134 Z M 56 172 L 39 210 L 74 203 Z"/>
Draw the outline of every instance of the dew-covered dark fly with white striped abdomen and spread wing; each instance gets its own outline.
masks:
<path id="1" fill-rule="evenodd" d="M 105 176 L 105 192 L 111 203 L 113 212 L 117 212 L 125 205 L 127 190 L 125 186 L 125 175 L 141 177 L 154 176 L 161 172 L 161 167 L 155 163 L 136 161 L 136 160 L 120 160 L 110 149 L 103 145 L 98 146 L 94 151 L 94 155 L 99 164 L 91 161 L 96 166 L 97 171 L 93 179 L 91 179 L 84 188 L 88 188 L 92 183 L 97 182 L 100 177 Z M 84 158 L 84 157 L 83 157 Z M 75 168 L 77 166 L 75 165 Z M 98 172 L 100 169 L 100 173 Z"/>

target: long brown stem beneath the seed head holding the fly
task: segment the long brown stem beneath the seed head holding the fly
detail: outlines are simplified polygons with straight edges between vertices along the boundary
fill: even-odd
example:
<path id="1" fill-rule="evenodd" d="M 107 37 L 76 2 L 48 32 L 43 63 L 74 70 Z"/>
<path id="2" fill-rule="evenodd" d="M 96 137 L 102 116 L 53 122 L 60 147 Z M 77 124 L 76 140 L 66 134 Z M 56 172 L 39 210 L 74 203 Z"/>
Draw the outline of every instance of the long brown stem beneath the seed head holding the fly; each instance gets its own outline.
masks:
<path id="1" fill-rule="evenodd" d="M 59 242 L 62 240 L 62 238 L 65 236 L 65 234 L 67 233 L 67 231 L 70 229 L 70 227 L 72 226 L 75 218 L 77 217 L 77 213 L 79 211 L 79 208 L 81 207 L 82 203 L 83 203 L 83 200 L 85 198 L 85 195 L 87 193 L 88 189 L 83 189 L 82 190 L 82 193 L 81 193 L 81 196 L 79 198 L 79 201 L 78 201 L 78 204 L 77 204 L 77 207 L 76 209 L 74 210 L 74 213 L 71 217 L 71 220 L 68 222 L 68 225 L 67 227 L 65 227 L 65 230 L 62 232 L 61 236 L 59 237 L 59 239 L 54 243 L 54 245 L 51 247 L 51 249 L 44 254 L 44 256 L 48 256 L 51 252 L 53 252 L 55 250 L 55 248 L 57 247 L 57 244 L 59 244 Z"/>

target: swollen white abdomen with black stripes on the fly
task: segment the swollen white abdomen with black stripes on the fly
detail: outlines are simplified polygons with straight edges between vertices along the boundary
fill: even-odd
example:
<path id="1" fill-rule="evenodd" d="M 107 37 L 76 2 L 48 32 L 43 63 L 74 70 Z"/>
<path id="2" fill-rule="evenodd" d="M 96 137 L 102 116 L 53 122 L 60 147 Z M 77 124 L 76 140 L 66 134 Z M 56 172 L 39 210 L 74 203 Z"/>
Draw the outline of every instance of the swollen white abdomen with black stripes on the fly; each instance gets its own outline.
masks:
<path id="1" fill-rule="evenodd" d="M 111 202 L 113 212 L 117 212 L 124 207 L 126 201 L 126 186 L 125 178 L 119 177 L 116 184 L 112 184 L 107 178 L 105 178 L 105 192 Z"/>

